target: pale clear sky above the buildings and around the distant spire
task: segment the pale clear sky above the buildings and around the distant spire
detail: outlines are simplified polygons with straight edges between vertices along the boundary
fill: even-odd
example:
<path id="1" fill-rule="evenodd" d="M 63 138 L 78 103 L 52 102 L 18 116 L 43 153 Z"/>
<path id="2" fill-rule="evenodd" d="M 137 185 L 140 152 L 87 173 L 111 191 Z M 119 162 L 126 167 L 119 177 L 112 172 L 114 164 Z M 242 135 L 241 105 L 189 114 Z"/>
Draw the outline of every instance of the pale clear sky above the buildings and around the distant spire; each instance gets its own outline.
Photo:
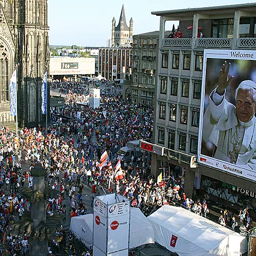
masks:
<path id="1" fill-rule="evenodd" d="M 106 46 L 111 36 L 112 19 L 116 26 L 124 4 L 126 22 L 134 21 L 134 34 L 159 30 L 159 17 L 152 11 L 164 11 L 208 6 L 254 3 L 255 0 L 49 0 L 48 25 L 50 45 Z M 169 28 L 171 29 L 171 28 Z"/>

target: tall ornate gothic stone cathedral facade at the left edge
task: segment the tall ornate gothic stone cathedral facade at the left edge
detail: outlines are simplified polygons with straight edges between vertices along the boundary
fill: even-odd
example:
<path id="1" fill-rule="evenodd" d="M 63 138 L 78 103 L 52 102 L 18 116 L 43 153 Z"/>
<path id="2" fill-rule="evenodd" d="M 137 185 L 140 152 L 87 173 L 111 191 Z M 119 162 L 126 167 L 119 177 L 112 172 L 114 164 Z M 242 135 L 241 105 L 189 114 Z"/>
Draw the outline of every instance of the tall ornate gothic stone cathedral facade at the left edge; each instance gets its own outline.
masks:
<path id="1" fill-rule="evenodd" d="M 0 125 L 14 121 L 9 83 L 15 68 L 18 126 L 46 120 L 41 114 L 41 83 L 50 63 L 47 1 L 0 0 Z"/>

